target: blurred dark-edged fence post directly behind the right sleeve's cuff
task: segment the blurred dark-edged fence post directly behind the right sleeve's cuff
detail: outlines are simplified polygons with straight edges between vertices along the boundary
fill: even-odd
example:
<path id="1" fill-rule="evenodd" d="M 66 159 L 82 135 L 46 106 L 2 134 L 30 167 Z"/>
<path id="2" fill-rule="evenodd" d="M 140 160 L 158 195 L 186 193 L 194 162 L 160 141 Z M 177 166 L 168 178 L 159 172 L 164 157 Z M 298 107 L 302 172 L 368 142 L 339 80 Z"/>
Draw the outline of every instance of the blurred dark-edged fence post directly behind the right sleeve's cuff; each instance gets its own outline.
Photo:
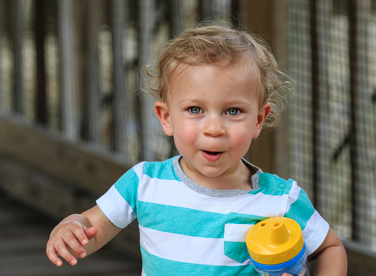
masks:
<path id="1" fill-rule="evenodd" d="M 326 0 L 313 1 L 315 6 L 315 26 L 311 26 L 311 74 L 312 74 L 312 203 L 317 211 L 328 220 L 332 220 L 329 198 L 331 155 L 330 104 L 327 99 L 331 91 L 328 89 L 329 75 L 329 26 L 331 20 L 331 4 Z M 315 41 L 314 41 L 315 40 Z"/>

